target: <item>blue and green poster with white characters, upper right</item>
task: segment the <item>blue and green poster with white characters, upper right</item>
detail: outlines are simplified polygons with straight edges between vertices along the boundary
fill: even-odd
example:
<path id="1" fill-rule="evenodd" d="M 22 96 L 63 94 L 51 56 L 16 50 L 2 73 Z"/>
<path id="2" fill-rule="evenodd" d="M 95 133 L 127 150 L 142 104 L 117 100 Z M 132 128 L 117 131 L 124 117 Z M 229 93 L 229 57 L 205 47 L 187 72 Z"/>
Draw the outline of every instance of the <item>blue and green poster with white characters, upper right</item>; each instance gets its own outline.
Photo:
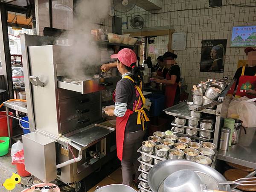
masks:
<path id="1" fill-rule="evenodd" d="M 231 47 L 256 47 L 256 26 L 233 27 Z"/>

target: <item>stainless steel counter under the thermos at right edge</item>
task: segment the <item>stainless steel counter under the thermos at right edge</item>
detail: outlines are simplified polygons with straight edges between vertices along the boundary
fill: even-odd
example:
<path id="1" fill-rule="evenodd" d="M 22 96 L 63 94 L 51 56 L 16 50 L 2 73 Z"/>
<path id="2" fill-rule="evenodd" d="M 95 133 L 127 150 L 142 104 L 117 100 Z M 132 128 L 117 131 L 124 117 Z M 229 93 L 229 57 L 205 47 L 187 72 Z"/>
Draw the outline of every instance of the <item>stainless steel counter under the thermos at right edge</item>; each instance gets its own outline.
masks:
<path id="1" fill-rule="evenodd" d="M 250 139 L 246 135 L 241 135 L 239 143 L 228 151 L 218 150 L 217 159 L 256 169 L 256 134 Z"/>

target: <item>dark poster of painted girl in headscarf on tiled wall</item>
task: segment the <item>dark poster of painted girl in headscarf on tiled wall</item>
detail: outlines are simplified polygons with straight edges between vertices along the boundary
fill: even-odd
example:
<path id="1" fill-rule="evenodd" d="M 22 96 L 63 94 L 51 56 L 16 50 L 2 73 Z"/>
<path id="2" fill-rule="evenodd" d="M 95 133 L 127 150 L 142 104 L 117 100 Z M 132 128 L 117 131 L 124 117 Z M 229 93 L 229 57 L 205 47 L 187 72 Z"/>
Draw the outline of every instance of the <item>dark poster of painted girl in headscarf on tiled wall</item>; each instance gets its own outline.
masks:
<path id="1" fill-rule="evenodd" d="M 201 72 L 223 73 L 227 40 L 203 40 L 201 51 Z"/>

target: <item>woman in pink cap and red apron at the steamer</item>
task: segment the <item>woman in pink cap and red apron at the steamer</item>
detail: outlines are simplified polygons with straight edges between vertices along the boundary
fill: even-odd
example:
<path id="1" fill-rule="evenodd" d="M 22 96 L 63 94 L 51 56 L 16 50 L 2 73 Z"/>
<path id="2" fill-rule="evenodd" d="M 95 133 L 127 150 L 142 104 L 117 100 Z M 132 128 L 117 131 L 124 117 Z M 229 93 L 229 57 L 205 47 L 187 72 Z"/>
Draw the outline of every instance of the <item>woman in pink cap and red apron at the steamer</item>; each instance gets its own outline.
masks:
<path id="1" fill-rule="evenodd" d="M 131 186 L 134 170 L 135 181 L 138 181 L 140 163 L 137 161 L 137 150 L 145 134 L 144 122 L 149 121 L 143 110 L 143 79 L 136 67 L 137 56 L 133 50 L 122 49 L 118 54 L 111 55 L 111 58 L 116 58 L 116 64 L 104 64 L 101 70 L 117 67 L 122 79 L 117 82 L 113 94 L 115 108 L 106 113 L 116 116 L 116 150 L 121 160 L 122 183 Z"/>

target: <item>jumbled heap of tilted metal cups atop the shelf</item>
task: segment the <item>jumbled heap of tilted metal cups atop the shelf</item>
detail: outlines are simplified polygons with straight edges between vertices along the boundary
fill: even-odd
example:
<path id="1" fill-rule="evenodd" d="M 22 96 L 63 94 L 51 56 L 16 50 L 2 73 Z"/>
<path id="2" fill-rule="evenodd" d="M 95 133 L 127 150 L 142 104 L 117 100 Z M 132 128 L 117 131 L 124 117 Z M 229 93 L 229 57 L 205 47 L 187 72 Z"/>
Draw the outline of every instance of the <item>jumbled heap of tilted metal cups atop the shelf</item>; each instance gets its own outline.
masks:
<path id="1" fill-rule="evenodd" d="M 194 85 L 192 89 L 193 103 L 195 105 L 207 105 L 216 101 L 228 83 L 229 81 L 226 78 L 218 81 L 212 79 L 208 79 L 205 82 L 201 81 L 200 84 Z M 214 108 L 215 106 L 209 107 L 209 109 Z"/>

